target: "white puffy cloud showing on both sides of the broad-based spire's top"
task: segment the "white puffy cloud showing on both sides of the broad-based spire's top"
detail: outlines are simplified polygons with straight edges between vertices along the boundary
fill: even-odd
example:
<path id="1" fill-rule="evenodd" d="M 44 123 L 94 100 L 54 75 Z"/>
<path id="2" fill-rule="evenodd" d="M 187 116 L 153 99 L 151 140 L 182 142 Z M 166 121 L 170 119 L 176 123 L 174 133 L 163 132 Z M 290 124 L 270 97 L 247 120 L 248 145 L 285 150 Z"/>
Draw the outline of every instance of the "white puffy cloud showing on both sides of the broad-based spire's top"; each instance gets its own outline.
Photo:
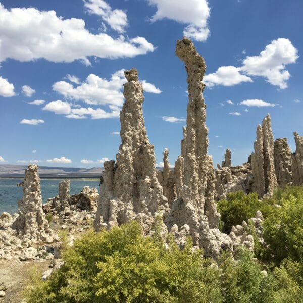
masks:
<path id="1" fill-rule="evenodd" d="M 89 105 L 122 106 L 124 100 L 122 89 L 126 82 L 124 71 L 124 69 L 116 71 L 109 80 L 90 74 L 85 82 L 76 87 L 66 81 L 59 81 L 53 84 L 53 90 L 67 99 L 84 101 Z M 161 92 L 159 88 L 146 80 L 142 80 L 142 85 L 146 92 Z"/>

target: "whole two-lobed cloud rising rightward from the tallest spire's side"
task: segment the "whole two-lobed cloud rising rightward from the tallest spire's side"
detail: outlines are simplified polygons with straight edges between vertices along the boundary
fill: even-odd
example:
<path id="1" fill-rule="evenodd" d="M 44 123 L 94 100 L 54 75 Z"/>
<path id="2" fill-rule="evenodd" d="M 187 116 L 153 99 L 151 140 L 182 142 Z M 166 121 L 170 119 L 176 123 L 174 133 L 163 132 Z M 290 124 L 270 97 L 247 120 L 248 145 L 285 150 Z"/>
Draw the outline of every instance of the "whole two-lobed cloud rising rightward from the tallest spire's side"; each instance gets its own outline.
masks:
<path id="1" fill-rule="evenodd" d="M 284 89 L 290 78 L 286 65 L 296 62 L 297 53 L 289 39 L 278 38 L 268 44 L 258 56 L 247 56 L 241 67 L 221 66 L 215 73 L 204 76 L 204 81 L 209 87 L 232 86 L 252 82 L 251 76 L 259 76 L 264 77 L 270 84 Z"/>

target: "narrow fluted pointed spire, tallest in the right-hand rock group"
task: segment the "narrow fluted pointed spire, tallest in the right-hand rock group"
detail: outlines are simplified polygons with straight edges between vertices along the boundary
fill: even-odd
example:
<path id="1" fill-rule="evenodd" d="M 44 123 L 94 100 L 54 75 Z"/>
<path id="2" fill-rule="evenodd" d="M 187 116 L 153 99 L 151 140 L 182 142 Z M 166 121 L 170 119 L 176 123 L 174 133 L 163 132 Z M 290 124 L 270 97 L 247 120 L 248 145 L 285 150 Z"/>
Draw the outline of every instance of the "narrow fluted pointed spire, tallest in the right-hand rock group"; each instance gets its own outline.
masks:
<path id="1" fill-rule="evenodd" d="M 255 152 L 251 154 L 252 175 L 259 198 L 265 194 L 272 195 L 277 187 L 274 166 L 274 136 L 271 130 L 270 115 L 263 119 L 262 126 L 257 127 Z"/>

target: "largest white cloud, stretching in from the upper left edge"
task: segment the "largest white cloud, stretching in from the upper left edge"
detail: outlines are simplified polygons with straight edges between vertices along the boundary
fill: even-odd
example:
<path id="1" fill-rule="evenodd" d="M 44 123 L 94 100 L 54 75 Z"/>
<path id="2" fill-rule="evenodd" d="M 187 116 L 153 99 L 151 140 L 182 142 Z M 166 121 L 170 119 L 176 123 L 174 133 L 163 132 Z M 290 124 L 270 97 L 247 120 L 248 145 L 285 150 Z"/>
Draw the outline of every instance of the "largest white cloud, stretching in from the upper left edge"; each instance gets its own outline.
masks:
<path id="1" fill-rule="evenodd" d="M 0 40 L 0 62 L 8 58 L 22 62 L 44 58 L 52 62 L 81 60 L 89 65 L 90 56 L 134 57 L 155 49 L 144 37 L 92 34 L 82 19 L 64 19 L 57 17 L 55 11 L 35 8 L 6 9 L 2 4 Z"/>

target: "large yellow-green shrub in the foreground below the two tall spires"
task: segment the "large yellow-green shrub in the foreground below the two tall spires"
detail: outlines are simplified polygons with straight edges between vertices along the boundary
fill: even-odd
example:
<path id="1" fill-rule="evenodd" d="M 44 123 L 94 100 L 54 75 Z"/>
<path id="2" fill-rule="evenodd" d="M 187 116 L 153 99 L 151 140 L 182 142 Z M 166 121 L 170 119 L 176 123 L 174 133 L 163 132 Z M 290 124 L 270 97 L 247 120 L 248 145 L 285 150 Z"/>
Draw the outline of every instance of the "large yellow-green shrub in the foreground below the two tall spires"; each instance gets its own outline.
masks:
<path id="1" fill-rule="evenodd" d="M 144 238 L 135 221 L 92 231 L 63 253 L 64 265 L 46 281 L 33 278 L 29 302 L 221 302 L 218 271 L 201 251 Z"/>

